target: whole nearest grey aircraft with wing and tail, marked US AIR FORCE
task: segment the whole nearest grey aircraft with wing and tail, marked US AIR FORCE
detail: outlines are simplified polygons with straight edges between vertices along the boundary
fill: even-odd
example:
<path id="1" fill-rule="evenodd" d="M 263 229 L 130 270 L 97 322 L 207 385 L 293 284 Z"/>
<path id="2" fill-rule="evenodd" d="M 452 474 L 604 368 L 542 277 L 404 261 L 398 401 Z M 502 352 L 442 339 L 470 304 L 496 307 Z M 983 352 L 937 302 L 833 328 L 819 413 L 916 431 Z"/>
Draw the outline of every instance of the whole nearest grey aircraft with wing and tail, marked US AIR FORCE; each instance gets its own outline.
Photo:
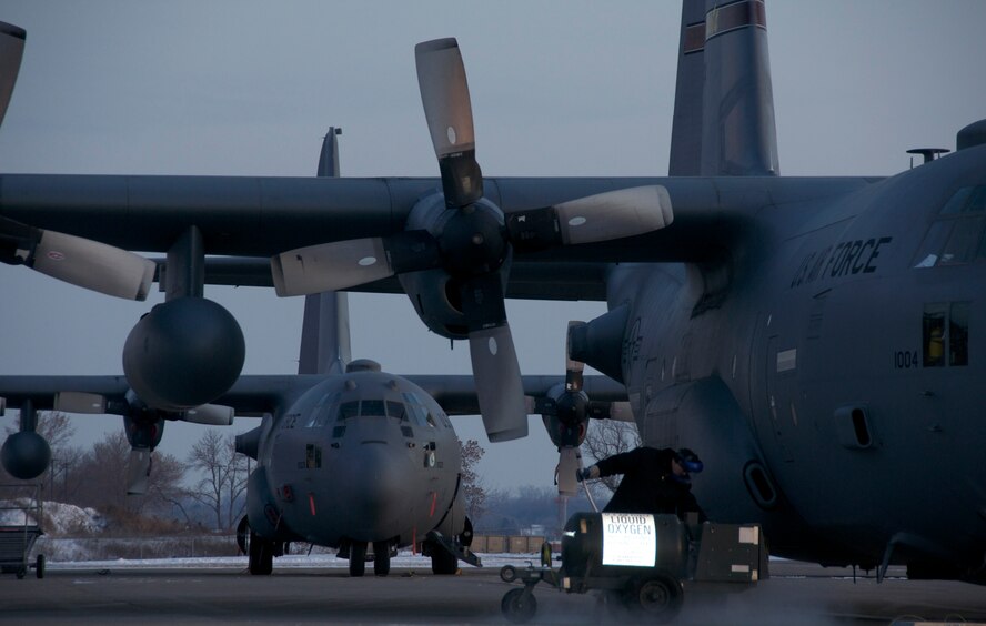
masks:
<path id="1" fill-rule="evenodd" d="M 626 385 L 647 444 L 714 460 L 694 485 L 711 518 L 763 524 L 782 556 L 984 582 L 984 122 L 959 131 L 954 154 L 896 176 L 782 178 L 764 3 L 685 2 L 671 176 L 482 178 L 463 119 L 445 123 L 467 97 L 450 68 L 436 72 L 461 77 L 440 89 L 454 103 L 444 113 L 422 80 L 442 181 L 3 175 L 3 232 L 30 251 L 7 260 L 54 273 L 41 244 L 64 232 L 172 251 L 168 276 L 200 267 L 202 253 L 274 256 L 284 293 L 345 286 L 299 280 L 315 265 L 345 267 L 348 281 L 373 281 L 353 289 L 403 291 L 454 339 L 506 327 L 497 289 L 605 299 L 608 313 L 572 331 L 571 354 Z M 482 200 L 471 195 L 480 181 Z M 571 204 L 580 199 L 593 199 L 584 212 Z M 631 209 L 612 220 L 618 239 L 573 239 L 610 226 L 610 205 Z M 622 218 L 633 210 L 660 213 L 663 228 L 634 234 Z M 474 214 L 493 228 L 446 228 Z M 80 215 L 127 222 L 97 228 Z M 555 228 L 566 229 L 562 243 L 584 243 L 547 245 Z M 361 273 L 364 260 L 384 270 Z M 265 265 L 239 267 L 229 282 L 275 282 Z M 495 345 L 509 345 L 496 332 Z M 514 390 L 483 406 L 491 432 L 519 434 L 516 372 L 483 359 L 476 376 Z M 181 408 L 225 384 L 148 391 Z"/>

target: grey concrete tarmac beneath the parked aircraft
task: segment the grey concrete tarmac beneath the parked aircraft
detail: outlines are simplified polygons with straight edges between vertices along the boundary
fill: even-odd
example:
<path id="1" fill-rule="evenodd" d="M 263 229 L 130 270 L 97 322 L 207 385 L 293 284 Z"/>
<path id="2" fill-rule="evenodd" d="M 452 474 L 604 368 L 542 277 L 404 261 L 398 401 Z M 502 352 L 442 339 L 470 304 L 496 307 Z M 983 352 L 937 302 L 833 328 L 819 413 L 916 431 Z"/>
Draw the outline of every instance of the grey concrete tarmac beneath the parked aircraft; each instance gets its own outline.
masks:
<path id="1" fill-rule="evenodd" d="M 369 569 L 369 568 L 368 568 Z M 372 572 L 372 569 L 369 569 Z M 848 571 L 772 564 L 772 577 L 741 593 L 685 589 L 675 624 L 986 624 L 986 589 L 952 582 L 855 583 Z M 499 568 L 433 576 L 394 568 L 385 578 L 350 578 L 345 569 L 238 568 L 61 569 L 43 579 L 0 576 L 2 624 L 506 624 Z M 640 614 L 612 610 L 597 594 L 535 587 L 533 624 L 634 624 Z"/>

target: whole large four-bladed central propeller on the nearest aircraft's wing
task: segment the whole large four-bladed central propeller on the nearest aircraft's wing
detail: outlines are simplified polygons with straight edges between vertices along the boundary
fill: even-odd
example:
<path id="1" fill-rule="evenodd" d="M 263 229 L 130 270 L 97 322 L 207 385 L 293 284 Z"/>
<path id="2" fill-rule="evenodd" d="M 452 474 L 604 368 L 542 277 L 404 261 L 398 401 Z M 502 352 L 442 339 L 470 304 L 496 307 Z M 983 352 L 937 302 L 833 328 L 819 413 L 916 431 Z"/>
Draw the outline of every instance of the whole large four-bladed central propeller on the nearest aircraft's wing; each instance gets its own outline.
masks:
<path id="1" fill-rule="evenodd" d="M 384 236 L 301 248 L 271 259 L 278 295 L 345 290 L 394 274 L 441 269 L 457 294 L 483 424 L 491 442 L 527 434 L 516 349 L 504 293 L 515 250 L 607 241 L 651 232 L 672 221 L 658 185 L 615 190 L 552 206 L 504 212 L 483 195 L 472 103 L 455 39 L 414 49 L 417 83 L 442 176 L 444 209 L 419 208 L 416 228 Z"/>

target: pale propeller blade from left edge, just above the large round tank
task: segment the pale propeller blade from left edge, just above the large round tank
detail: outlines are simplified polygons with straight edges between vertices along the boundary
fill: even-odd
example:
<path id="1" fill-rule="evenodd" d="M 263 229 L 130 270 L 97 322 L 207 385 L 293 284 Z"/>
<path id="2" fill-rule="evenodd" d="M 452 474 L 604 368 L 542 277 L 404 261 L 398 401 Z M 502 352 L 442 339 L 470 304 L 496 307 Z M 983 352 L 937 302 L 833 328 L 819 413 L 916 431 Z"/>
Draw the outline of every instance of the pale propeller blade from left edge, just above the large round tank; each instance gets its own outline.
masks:
<path id="1" fill-rule="evenodd" d="M 127 300 L 145 300 L 157 265 L 150 259 L 80 236 L 0 218 L 0 262 Z"/>

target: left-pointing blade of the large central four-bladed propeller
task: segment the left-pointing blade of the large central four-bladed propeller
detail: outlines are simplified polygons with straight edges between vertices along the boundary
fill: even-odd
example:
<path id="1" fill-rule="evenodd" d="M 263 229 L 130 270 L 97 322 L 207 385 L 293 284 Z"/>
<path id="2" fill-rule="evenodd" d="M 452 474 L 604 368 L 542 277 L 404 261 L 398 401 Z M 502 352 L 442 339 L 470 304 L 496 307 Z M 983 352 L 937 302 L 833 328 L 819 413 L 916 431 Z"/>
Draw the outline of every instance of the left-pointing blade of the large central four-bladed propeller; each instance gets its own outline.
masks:
<path id="1" fill-rule="evenodd" d="M 435 239 L 427 231 L 415 230 L 282 252 L 271 258 L 271 275 L 278 295 L 309 295 L 430 270 L 441 262 Z"/>

